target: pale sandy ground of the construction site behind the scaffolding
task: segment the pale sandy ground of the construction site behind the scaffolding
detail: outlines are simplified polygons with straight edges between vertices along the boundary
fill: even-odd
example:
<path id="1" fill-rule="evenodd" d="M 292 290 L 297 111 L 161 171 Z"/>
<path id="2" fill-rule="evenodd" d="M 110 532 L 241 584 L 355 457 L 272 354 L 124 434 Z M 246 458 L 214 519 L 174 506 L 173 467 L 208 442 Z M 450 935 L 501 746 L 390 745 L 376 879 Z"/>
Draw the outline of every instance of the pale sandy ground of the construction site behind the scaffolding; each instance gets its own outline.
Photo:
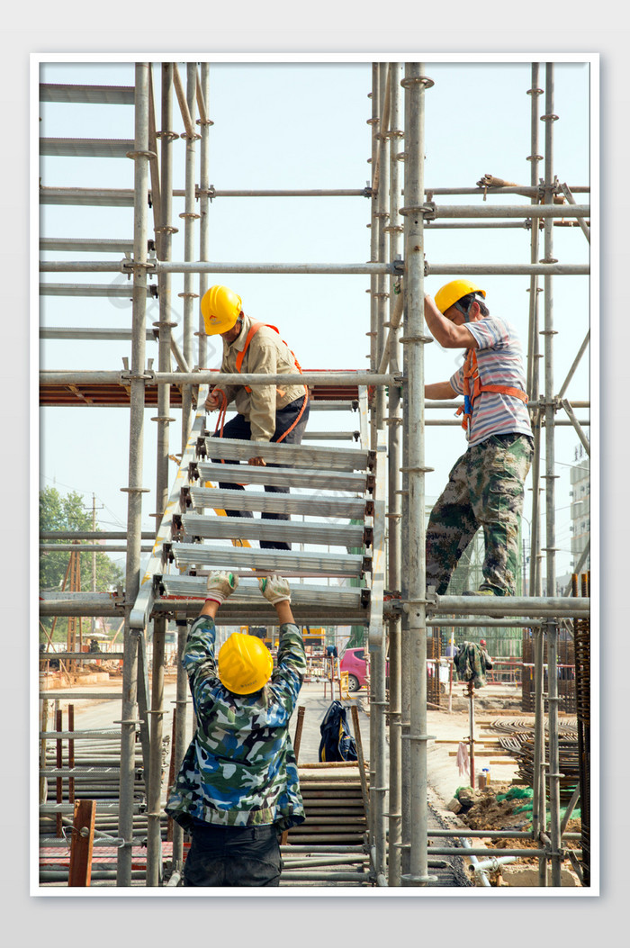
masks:
<path id="1" fill-rule="evenodd" d="M 119 720 L 119 699 L 113 697 L 108 701 L 101 696 L 108 690 L 113 695 L 119 694 L 121 680 L 118 676 L 109 677 L 95 665 L 85 669 L 73 684 L 63 687 L 64 698 L 61 707 L 64 709 L 69 703 L 68 692 L 72 690 L 85 692 L 93 689 L 99 693 L 99 699 L 93 702 L 78 700 L 74 703 L 75 727 L 77 729 L 99 728 L 110 726 Z M 476 790 L 473 793 L 474 804 L 467 812 L 455 813 L 451 807 L 459 788 L 470 783 L 469 775 L 459 770 L 458 749 L 461 742 L 469 737 L 469 700 L 465 694 L 465 686 L 453 684 L 452 692 L 441 696 L 440 709 L 429 707 L 427 711 L 427 733 L 431 736 L 427 749 L 428 764 L 428 804 L 429 804 L 429 833 L 432 829 L 461 830 L 461 837 L 466 837 L 466 830 L 528 830 L 527 813 L 514 813 L 521 800 L 497 801 L 497 794 L 506 793 L 513 781 L 518 781 L 518 761 L 516 757 L 507 754 L 498 743 L 498 734 L 494 730 L 497 721 L 510 723 L 514 720 L 519 725 L 531 720 L 533 716 L 525 715 L 521 711 L 520 689 L 515 684 L 487 684 L 483 690 L 477 691 L 475 698 L 475 737 L 476 755 L 475 770 L 479 774 L 482 768 L 489 768 L 491 783 L 486 790 Z M 49 700 L 55 699 L 55 688 L 47 690 Z M 171 733 L 171 708 L 175 701 L 175 677 L 167 675 L 165 681 L 164 707 L 169 709 L 164 720 L 164 734 Z M 339 690 L 335 685 L 334 698 L 339 698 Z M 450 700 L 449 700 L 450 699 Z M 299 747 L 299 764 L 312 764 L 318 761 L 318 748 L 321 739 L 320 723 L 332 701 L 331 685 L 319 682 L 306 682 L 300 692 L 299 705 L 304 706 L 303 729 Z M 359 712 L 360 738 L 364 757 L 369 759 L 369 701 L 365 689 L 361 689 L 351 698 L 343 698 L 343 704 L 348 708 L 348 719 L 352 728 L 351 705 L 356 704 Z M 449 710 L 450 705 L 450 710 Z M 297 714 L 294 715 L 294 727 Z M 190 728 L 188 732 L 190 736 Z M 476 781 L 477 782 L 477 781 Z M 386 799 L 386 812 L 388 800 Z M 579 831 L 580 821 L 571 820 L 568 830 Z M 491 838 L 474 838 L 471 840 L 475 848 L 532 848 L 533 843 L 528 840 L 500 840 Z M 444 837 L 434 837 L 431 840 L 435 846 L 449 845 Z M 462 857 L 459 848 L 459 836 L 453 840 L 458 855 L 453 859 L 444 857 L 430 859 L 429 874 L 435 877 L 434 885 L 439 886 L 466 886 L 475 885 L 475 875 L 471 861 Z M 569 841 L 568 846 L 579 848 L 579 841 Z M 568 866 L 566 863 L 565 866 Z M 519 859 L 509 866 L 501 866 L 491 876 L 493 885 L 530 886 L 538 884 L 538 861 L 535 858 Z M 94 882 L 93 885 L 107 884 Z M 109 883 L 113 884 L 113 883 Z M 142 884 L 134 882 L 134 884 Z M 283 885 L 294 885 L 292 882 L 282 882 Z M 312 883 L 315 885 L 348 885 L 348 883 Z M 563 885 L 579 885 L 575 873 L 568 867 L 563 869 Z M 351 886 L 362 885 L 351 883 Z"/>

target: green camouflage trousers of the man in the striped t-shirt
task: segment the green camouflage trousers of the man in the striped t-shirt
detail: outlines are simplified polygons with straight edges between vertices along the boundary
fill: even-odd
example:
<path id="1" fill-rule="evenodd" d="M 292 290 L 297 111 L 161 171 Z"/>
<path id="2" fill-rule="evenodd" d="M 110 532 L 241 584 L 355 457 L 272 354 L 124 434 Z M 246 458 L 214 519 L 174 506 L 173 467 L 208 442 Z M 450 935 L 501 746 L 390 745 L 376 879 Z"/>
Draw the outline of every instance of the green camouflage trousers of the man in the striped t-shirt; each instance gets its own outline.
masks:
<path id="1" fill-rule="evenodd" d="M 479 527 L 485 556 L 480 589 L 513 595 L 524 483 L 533 442 L 523 434 L 491 435 L 469 447 L 449 474 L 426 529 L 426 585 L 438 595 Z"/>

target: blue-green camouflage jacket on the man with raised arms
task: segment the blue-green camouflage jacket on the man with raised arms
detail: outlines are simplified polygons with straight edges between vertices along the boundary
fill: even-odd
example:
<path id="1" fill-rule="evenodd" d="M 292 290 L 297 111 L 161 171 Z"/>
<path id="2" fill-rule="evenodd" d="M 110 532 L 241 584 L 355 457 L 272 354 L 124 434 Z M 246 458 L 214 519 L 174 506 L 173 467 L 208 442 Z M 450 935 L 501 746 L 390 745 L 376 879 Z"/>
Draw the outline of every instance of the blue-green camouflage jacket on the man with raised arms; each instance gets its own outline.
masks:
<path id="1" fill-rule="evenodd" d="M 304 821 L 289 720 L 306 671 L 302 637 L 280 626 L 278 665 L 252 695 L 236 695 L 219 681 L 215 628 L 208 616 L 190 627 L 182 663 L 189 676 L 197 731 L 182 762 L 167 813 L 185 830 L 194 820 L 219 826 Z"/>

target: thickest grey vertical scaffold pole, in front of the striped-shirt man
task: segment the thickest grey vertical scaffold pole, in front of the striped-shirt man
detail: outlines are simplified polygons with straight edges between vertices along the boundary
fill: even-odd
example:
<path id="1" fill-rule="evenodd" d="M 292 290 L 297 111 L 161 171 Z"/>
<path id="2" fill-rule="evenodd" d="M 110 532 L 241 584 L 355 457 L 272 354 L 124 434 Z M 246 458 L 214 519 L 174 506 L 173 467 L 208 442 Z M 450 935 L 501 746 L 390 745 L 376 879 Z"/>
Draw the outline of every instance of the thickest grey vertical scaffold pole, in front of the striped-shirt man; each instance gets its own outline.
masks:
<path id="1" fill-rule="evenodd" d="M 426 802 L 426 563 L 424 555 L 424 91 L 433 85 L 423 75 L 423 64 L 405 63 L 405 95 L 409 121 L 405 166 L 405 343 L 408 346 L 407 410 L 409 491 L 409 620 L 410 663 L 410 774 L 409 774 L 409 871 L 404 885 L 426 885 L 428 814 Z"/>

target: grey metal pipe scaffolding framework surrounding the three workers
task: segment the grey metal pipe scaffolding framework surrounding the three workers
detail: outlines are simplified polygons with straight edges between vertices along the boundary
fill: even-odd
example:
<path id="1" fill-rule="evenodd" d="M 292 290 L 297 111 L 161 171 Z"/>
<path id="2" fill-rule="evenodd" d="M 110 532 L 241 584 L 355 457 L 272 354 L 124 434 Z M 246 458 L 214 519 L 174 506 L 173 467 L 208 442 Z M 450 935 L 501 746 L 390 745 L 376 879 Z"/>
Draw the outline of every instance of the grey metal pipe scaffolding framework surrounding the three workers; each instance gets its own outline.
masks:
<path id="1" fill-rule="evenodd" d="M 42 283 L 46 295 L 102 296 L 119 295 L 132 298 L 132 328 L 118 331 L 107 328 L 83 331 L 66 328 L 45 330 L 45 338 L 120 339 L 132 342 L 131 361 L 123 371 L 115 370 L 45 370 L 41 374 L 42 404 L 125 406 L 129 409 L 127 529 L 124 548 L 126 574 L 124 591 L 100 593 L 45 593 L 41 611 L 48 616 L 115 615 L 124 621 L 122 644 L 123 682 L 120 720 L 119 805 L 117 806 L 117 886 L 129 886 L 135 878 L 133 853 L 135 846 L 135 815 L 137 813 L 137 746 L 141 735 L 145 764 L 147 872 L 146 884 L 163 884 L 161 855 L 162 793 L 161 748 L 164 686 L 164 640 L 166 620 L 174 618 L 179 628 L 179 647 L 183 647 L 189 620 L 199 607 L 196 587 L 182 585 L 176 609 L 164 586 L 153 581 L 163 562 L 162 548 L 171 539 L 173 510 L 181 500 L 181 472 L 197 460 L 196 450 L 204 431 L 205 391 L 216 381 L 216 373 L 207 369 L 207 337 L 200 322 L 198 300 L 203 296 L 212 274 L 335 274 L 369 277 L 369 370 L 326 371 L 281 376 L 282 382 L 306 384 L 313 392 L 315 408 L 347 409 L 360 405 L 362 447 L 374 459 L 372 473 L 376 479 L 375 497 L 383 491 L 385 520 L 375 519 L 374 556 L 382 551 L 378 568 L 372 564 L 368 641 L 370 653 L 370 738 L 369 738 L 369 880 L 380 886 L 427 887 L 435 884 L 430 874 L 429 830 L 427 824 L 427 631 L 440 625 L 441 617 L 467 617 L 462 622 L 484 622 L 483 617 L 505 616 L 510 623 L 520 622 L 532 630 L 534 645 L 534 706 L 536 713 L 534 756 L 534 821 L 531 838 L 537 844 L 529 854 L 540 860 L 540 885 L 560 885 L 563 861 L 562 837 L 566 828 L 560 811 L 560 769 L 558 748 L 558 682 L 549 676 L 544 694 L 543 654 L 549 654 L 549 665 L 556 661 L 558 630 L 572 629 L 579 622 L 582 632 L 581 654 L 587 651 L 585 629 L 588 628 L 590 598 L 559 596 L 556 590 L 555 535 L 555 468 L 554 436 L 556 426 L 574 428 L 589 454 L 584 428 L 588 422 L 578 419 L 576 410 L 587 410 L 589 399 L 567 399 L 567 386 L 585 355 L 589 334 L 576 348 L 575 359 L 560 388 L 554 379 L 554 279 L 585 276 L 587 264 L 571 264 L 554 259 L 555 227 L 579 228 L 583 239 L 589 240 L 590 210 L 578 203 L 576 194 L 588 193 L 587 185 L 560 183 L 554 169 L 553 123 L 554 65 L 544 64 L 541 88 L 541 65 L 531 64 L 531 182 L 529 186 L 514 185 L 487 175 L 475 188 L 428 189 L 424 181 L 425 103 L 434 82 L 427 75 L 426 64 L 379 62 L 371 66 L 371 181 L 364 189 L 345 191 L 221 191 L 210 185 L 210 114 L 209 76 L 211 64 L 186 64 L 185 81 L 178 64 L 137 63 L 133 87 L 70 86 L 43 84 L 42 102 L 92 102 L 133 104 L 135 136 L 133 140 L 42 139 L 42 155 L 124 155 L 134 161 L 133 191 L 116 189 L 63 189 L 41 185 L 42 204 L 127 207 L 133 209 L 133 239 L 120 241 L 55 239 L 42 234 L 43 250 L 77 251 L 72 261 L 43 260 L 41 271 L 63 274 L 123 275 L 131 286 L 109 283 Z M 156 73 L 159 70 L 159 82 Z M 156 118 L 156 89 L 159 87 L 160 119 Z M 544 95 L 544 111 L 540 115 L 539 97 Z M 173 148 L 177 134 L 172 131 L 173 109 L 179 110 L 185 133 L 185 187 L 173 186 Z M 545 124 L 544 155 L 539 155 L 538 129 Z M 539 177 L 539 162 L 544 161 L 544 174 Z M 293 197 L 293 196 L 361 197 L 370 203 L 370 259 L 368 263 L 351 264 L 264 264 L 212 262 L 208 258 L 208 228 L 211 202 L 224 196 Z M 454 204 L 440 202 L 447 198 L 475 196 L 480 203 Z M 521 203 L 495 203 L 495 196 L 508 195 Z M 184 200 L 184 259 L 172 259 L 173 199 Z M 582 198 L 580 198 L 582 200 Z M 528 228 L 531 240 L 529 263 L 518 264 L 435 264 L 431 261 L 430 234 L 439 228 Z M 475 232 L 475 231 L 473 231 Z M 543 246 L 539 246 L 542 234 Z M 114 251 L 124 254 L 120 261 L 82 259 L 90 251 Z M 542 254 L 542 259 L 541 259 Z M 452 419 L 456 402 L 424 403 L 424 346 L 432 341 L 424 328 L 424 280 L 428 276 L 447 275 L 518 275 L 530 281 L 530 320 L 528 338 L 527 379 L 530 396 L 531 424 L 534 434 L 531 501 L 531 570 L 529 594 L 498 603 L 484 599 L 480 605 L 460 595 L 436 596 L 425 589 L 424 480 L 427 471 L 424 431 L 427 426 L 459 424 Z M 173 336 L 173 282 L 183 287 L 183 331 L 181 339 Z M 542 293 L 542 314 L 539 294 Z M 153 334 L 146 328 L 147 303 L 159 302 L 159 319 Z M 542 327 L 542 328 L 541 328 Z M 539 337 L 543 351 L 538 350 Z M 146 343 L 155 338 L 158 365 L 147 360 Z M 197 337 L 195 345 L 195 337 Z M 173 368 L 173 361 L 175 367 Z M 278 382 L 280 376 L 263 376 L 264 383 Z M 226 384 L 264 384 L 255 374 L 222 375 Z M 370 393 L 369 417 L 366 393 Z M 336 402 L 335 402 L 336 399 Z M 141 572 L 142 495 L 145 467 L 143 434 L 144 412 L 156 407 L 153 421 L 157 425 L 155 534 L 152 565 Z M 181 438 L 176 448 L 171 442 L 173 410 L 181 410 Z M 440 412 L 438 418 L 434 415 Z M 448 416 L 444 416 L 448 412 Z M 427 417 L 428 416 L 428 417 Z M 322 440 L 331 433 L 319 435 Z M 316 437 L 316 435 L 313 435 Z M 272 446 L 273 447 L 273 446 Z M 170 452 L 178 455 L 178 479 L 170 484 Z M 544 462 L 543 462 L 544 459 Z M 540 486 L 543 483 L 543 487 Z M 187 484 L 187 486 L 189 486 Z M 545 498 L 541 509 L 540 495 Z M 380 501 L 378 501 L 380 502 Z M 181 510 L 175 510 L 179 516 Z M 544 513 L 544 517 L 543 517 Z M 386 528 L 387 520 L 387 528 Z M 545 522 L 545 537 L 542 523 Z M 380 533 L 379 533 L 380 532 Z M 354 546 L 355 541 L 348 541 Z M 106 551 L 107 547 L 99 547 Z M 235 551 L 236 556 L 237 551 Z M 247 551 L 240 551 L 246 562 Z M 157 559 L 156 559 L 157 557 Z M 543 586 L 542 560 L 545 561 L 546 585 Z M 155 560 L 155 562 L 153 562 Z M 158 563 L 159 560 L 159 563 Z M 387 562 L 387 567 L 385 563 Z M 586 558 L 578 572 L 585 569 Z M 341 570 L 340 565 L 335 569 Z M 381 580 L 376 577 L 381 575 Z M 387 577 L 387 578 L 386 578 Z M 182 577 L 184 579 L 184 577 Z M 379 586 L 380 582 L 380 586 Z M 384 593 L 388 592 L 387 601 Z M 305 593 L 306 594 L 306 593 Z M 357 595 L 348 599 L 347 609 L 339 611 L 337 624 L 360 622 L 361 609 Z M 188 598 L 187 598 L 188 597 Z M 304 615 L 309 613 L 304 600 Z M 255 605 L 243 607 L 229 616 L 237 621 L 253 620 Z M 477 618 L 480 617 L 480 618 Z M 315 618 L 334 624 L 333 614 L 316 614 Z M 146 629 L 153 620 L 153 687 L 147 679 Z M 227 621 L 227 620 L 226 620 Z M 315 619 L 314 619 L 315 621 Z M 457 622 L 457 619 L 452 620 Z M 449 619 L 449 623 L 451 620 Z M 587 636 L 586 636 L 587 638 Z M 389 657 L 389 691 L 386 688 L 386 656 Z M 81 661 L 84 655 L 64 653 L 69 660 Z M 587 659 L 583 664 L 586 663 Z M 583 697 L 586 685 L 583 688 Z M 549 709 L 549 753 L 546 760 L 543 726 L 545 700 Z M 588 709 L 583 701 L 583 720 L 588 722 Z M 186 682 L 178 678 L 177 708 L 186 706 Z M 147 724 L 150 720 L 150 724 Z M 144 725 L 144 726 L 142 726 Z M 178 714 L 174 735 L 177 755 L 184 753 L 184 714 Z M 43 732 L 42 739 L 52 739 L 56 732 Z M 109 736 L 107 736 L 109 737 Z M 582 746 L 589 748 L 583 735 Z M 388 772 L 386 744 L 388 742 Z M 588 761 L 583 760 L 584 767 Z M 587 775 L 582 775 L 582 792 L 586 793 Z M 584 782 L 586 781 L 586 782 Z M 547 783 L 549 782 L 549 792 Z M 386 808 L 388 796 L 388 811 Z M 549 796 L 549 834 L 547 832 L 547 799 Z M 573 803 L 575 805 L 575 801 Z M 46 812 L 55 811 L 48 807 Z M 67 811 L 65 811 L 67 812 Z M 447 836 L 448 830 L 437 835 Z M 431 831 L 435 836 L 436 832 Z M 467 834 L 468 835 L 468 834 Z M 506 834 L 508 837 L 510 833 Z M 181 865 L 181 830 L 173 833 L 173 862 Z M 179 855 L 177 855 L 177 853 Z M 431 848 L 432 855 L 441 849 Z M 470 856 L 488 855 L 487 849 L 469 848 Z M 512 850 L 502 849 L 502 855 Z M 588 871 L 584 878 L 589 879 Z"/>

